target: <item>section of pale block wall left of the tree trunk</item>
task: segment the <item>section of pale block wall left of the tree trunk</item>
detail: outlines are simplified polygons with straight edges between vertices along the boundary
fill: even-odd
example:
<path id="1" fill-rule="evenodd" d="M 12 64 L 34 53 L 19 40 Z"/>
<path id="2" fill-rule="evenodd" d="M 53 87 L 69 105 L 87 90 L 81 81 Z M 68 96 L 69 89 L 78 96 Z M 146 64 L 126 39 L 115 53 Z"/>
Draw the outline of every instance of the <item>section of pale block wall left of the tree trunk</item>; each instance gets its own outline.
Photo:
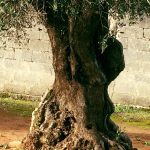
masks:
<path id="1" fill-rule="evenodd" d="M 55 78 L 51 45 L 44 26 L 25 30 L 21 41 L 0 36 L 0 92 L 41 96 Z"/>

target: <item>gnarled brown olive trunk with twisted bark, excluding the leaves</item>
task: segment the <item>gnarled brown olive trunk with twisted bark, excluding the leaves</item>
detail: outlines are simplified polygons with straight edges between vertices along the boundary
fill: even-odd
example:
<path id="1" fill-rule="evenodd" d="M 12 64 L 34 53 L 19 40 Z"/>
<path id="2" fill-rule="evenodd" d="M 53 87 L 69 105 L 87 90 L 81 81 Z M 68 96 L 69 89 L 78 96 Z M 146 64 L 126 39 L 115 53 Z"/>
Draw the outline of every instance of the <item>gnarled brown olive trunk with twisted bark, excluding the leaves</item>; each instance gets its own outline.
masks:
<path id="1" fill-rule="evenodd" d="M 87 5 L 84 13 L 67 21 L 49 18 L 55 82 L 33 112 L 24 149 L 132 149 L 110 120 L 114 106 L 107 89 L 123 70 L 124 59 L 119 41 L 110 38 L 104 53 L 98 44 L 108 33 L 106 12 L 99 15 Z M 63 35 L 59 23 L 67 28 Z"/>

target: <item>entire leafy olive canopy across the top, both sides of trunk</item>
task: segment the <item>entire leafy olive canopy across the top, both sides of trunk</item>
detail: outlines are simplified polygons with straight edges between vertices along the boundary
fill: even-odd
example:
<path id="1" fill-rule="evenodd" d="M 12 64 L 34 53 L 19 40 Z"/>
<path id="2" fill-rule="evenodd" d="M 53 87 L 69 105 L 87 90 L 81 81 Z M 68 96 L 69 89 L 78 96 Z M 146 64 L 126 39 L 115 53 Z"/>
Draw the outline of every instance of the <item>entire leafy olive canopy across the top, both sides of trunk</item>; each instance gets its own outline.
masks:
<path id="1" fill-rule="evenodd" d="M 107 3 L 109 14 L 113 17 L 124 18 L 127 14 L 130 19 L 150 15 L 149 0 L 0 0 L 0 30 L 11 27 L 24 27 L 28 21 L 31 6 L 40 12 L 45 8 L 51 9 L 56 15 L 78 15 L 89 5 L 99 8 L 104 2 Z M 84 5 L 83 5 L 84 4 Z M 38 7 L 40 5 L 40 7 Z"/>

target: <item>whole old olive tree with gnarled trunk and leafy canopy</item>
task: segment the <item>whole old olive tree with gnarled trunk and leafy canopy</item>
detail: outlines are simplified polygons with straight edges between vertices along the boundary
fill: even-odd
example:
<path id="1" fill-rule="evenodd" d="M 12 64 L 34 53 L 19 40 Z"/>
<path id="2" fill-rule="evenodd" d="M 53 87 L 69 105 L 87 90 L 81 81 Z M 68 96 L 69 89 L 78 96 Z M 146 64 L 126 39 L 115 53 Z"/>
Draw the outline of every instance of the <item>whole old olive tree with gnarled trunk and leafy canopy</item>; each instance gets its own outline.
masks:
<path id="1" fill-rule="evenodd" d="M 33 112 L 24 149 L 131 150 L 131 140 L 110 119 L 108 86 L 125 64 L 122 44 L 109 34 L 108 15 L 142 18 L 149 1 L 1 0 L 1 29 L 22 27 L 29 4 L 46 13 L 55 82 Z"/>

